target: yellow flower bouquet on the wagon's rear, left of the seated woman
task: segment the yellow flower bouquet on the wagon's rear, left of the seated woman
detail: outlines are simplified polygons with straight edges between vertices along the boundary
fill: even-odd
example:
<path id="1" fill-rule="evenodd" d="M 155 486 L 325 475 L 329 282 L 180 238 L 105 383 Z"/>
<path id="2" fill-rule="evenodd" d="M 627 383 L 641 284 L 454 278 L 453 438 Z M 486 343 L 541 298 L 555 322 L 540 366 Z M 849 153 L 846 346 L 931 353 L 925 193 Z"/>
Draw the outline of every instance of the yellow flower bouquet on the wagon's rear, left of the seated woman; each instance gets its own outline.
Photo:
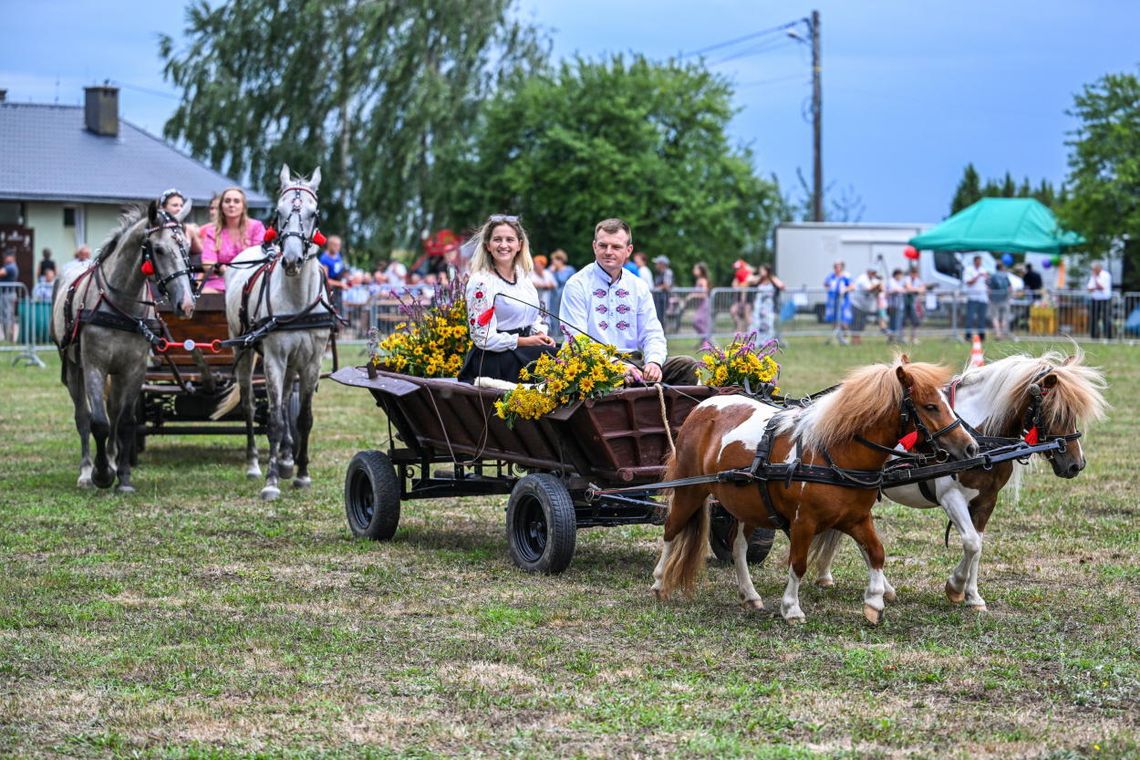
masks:
<path id="1" fill-rule="evenodd" d="M 407 320 L 383 340 L 369 330 L 372 366 L 416 377 L 458 377 L 471 350 L 464 287 L 463 279 L 440 286 L 426 305 L 401 297 Z"/>

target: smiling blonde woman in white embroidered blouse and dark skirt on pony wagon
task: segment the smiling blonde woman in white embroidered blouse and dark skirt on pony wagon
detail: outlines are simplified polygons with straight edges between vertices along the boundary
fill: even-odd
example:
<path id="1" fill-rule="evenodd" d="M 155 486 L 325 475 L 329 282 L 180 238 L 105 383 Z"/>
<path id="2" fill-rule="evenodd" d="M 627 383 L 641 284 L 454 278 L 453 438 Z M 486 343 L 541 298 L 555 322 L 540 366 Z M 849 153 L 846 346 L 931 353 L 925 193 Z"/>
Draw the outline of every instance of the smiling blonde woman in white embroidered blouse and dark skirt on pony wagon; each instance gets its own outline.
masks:
<path id="1" fill-rule="evenodd" d="M 494 377 L 516 383 L 519 370 L 543 353 L 554 353 L 530 280 L 534 263 L 518 216 L 494 215 L 475 235 L 467 279 L 467 329 L 475 344 L 459 379 Z M 498 296 L 498 297 L 496 297 Z"/>

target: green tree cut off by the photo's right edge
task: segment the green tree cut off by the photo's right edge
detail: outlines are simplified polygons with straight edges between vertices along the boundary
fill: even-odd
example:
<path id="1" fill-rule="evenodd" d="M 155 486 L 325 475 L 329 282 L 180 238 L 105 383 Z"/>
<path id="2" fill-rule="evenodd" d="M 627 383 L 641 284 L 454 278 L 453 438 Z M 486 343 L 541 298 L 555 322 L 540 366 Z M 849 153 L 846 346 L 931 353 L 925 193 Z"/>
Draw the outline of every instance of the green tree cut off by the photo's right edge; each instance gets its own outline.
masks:
<path id="1" fill-rule="evenodd" d="M 1140 79 L 1107 74 L 1084 85 L 1074 104 L 1068 113 L 1081 124 L 1067 141 L 1061 222 L 1084 235 L 1096 255 L 1123 244 L 1125 269 L 1140 272 Z"/>

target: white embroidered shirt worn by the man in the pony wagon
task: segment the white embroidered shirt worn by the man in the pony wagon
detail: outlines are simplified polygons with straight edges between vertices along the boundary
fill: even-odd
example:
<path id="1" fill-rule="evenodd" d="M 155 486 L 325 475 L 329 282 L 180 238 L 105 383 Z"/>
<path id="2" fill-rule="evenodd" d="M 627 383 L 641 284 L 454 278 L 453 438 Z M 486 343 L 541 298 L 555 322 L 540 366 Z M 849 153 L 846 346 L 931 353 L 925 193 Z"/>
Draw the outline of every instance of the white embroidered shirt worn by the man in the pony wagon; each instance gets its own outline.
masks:
<path id="1" fill-rule="evenodd" d="M 668 349 L 653 307 L 653 293 L 636 275 L 624 269 L 620 272 L 611 283 L 606 271 L 595 262 L 571 277 L 562 292 L 559 313 L 562 329 L 585 330 L 622 353 L 641 351 L 646 363 L 661 366 Z"/>

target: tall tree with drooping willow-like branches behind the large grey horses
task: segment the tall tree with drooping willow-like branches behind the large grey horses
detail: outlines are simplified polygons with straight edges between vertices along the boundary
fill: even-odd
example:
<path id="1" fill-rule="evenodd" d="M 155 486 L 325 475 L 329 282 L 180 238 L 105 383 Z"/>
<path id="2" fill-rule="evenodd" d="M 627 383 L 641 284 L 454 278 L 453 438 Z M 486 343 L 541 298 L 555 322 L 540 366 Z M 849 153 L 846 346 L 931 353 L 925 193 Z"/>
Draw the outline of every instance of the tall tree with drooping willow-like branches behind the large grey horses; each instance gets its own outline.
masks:
<path id="1" fill-rule="evenodd" d="M 417 242 L 446 219 L 446 167 L 503 77 L 540 65 L 513 0 L 229 0 L 160 40 L 184 91 L 166 123 L 212 166 L 276 190 L 282 162 L 323 167 L 325 228 Z"/>

